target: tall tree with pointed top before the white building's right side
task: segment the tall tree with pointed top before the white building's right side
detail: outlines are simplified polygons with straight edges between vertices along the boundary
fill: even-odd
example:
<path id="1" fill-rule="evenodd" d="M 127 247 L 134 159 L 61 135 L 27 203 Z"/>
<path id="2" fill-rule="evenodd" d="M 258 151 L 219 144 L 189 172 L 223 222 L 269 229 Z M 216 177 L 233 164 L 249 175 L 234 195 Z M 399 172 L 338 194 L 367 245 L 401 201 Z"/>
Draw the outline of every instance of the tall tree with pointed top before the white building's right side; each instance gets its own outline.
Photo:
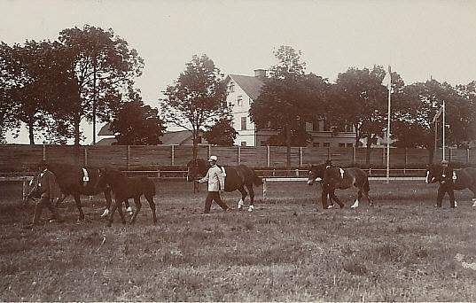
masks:
<path id="1" fill-rule="evenodd" d="M 286 167 L 291 168 L 292 134 L 299 130 L 297 120 L 315 120 L 324 103 L 328 82 L 315 74 L 304 74 L 300 51 L 280 46 L 274 52 L 277 65 L 264 80 L 260 96 L 250 107 L 250 117 L 258 128 L 279 130 L 285 135 Z M 283 136 L 276 136 L 279 139 Z"/>

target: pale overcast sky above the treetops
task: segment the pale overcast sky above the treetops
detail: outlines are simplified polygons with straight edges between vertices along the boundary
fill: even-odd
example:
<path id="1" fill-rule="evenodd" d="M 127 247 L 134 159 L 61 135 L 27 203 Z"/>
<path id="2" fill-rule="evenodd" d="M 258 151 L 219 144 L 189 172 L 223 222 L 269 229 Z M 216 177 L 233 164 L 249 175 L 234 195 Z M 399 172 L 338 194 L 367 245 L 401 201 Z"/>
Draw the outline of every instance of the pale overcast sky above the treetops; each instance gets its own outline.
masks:
<path id="1" fill-rule="evenodd" d="M 0 0 L 4 43 L 55 40 L 84 24 L 113 28 L 144 58 L 137 87 L 152 106 L 194 54 L 223 74 L 252 75 L 276 63 L 282 44 L 332 82 L 349 66 L 373 65 L 391 65 L 407 84 L 476 80 L 476 1 Z M 25 131 L 10 142 L 27 143 Z"/>

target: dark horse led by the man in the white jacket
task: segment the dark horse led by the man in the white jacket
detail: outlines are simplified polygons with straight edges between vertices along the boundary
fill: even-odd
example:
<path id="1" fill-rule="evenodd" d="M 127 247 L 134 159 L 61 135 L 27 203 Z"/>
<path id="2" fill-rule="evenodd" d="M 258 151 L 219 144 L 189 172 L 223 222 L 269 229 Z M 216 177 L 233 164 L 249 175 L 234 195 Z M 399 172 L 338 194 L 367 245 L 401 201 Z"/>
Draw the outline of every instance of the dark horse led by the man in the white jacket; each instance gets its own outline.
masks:
<path id="1" fill-rule="evenodd" d="M 187 164 L 187 180 L 194 181 L 199 176 L 207 174 L 210 164 L 206 159 L 197 159 L 196 162 L 191 160 Z M 222 166 L 219 166 L 222 167 Z M 241 209 L 245 203 L 247 194 L 250 195 L 250 206 L 248 211 L 254 210 L 254 190 L 253 185 L 260 186 L 262 179 L 256 175 L 253 168 L 246 167 L 246 165 L 238 165 L 237 167 L 222 167 L 225 173 L 225 191 L 231 192 L 239 190 L 241 192 L 241 199 L 238 202 L 238 209 Z M 248 190 L 246 192 L 245 190 Z"/>

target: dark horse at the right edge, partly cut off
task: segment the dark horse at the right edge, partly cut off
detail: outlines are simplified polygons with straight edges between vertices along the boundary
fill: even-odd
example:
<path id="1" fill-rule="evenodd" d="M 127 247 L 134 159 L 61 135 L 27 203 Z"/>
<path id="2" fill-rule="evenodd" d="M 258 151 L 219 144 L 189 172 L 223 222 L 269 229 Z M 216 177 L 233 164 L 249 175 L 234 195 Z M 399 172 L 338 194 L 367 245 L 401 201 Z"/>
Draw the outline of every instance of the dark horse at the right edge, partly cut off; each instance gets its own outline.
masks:
<path id="1" fill-rule="evenodd" d="M 426 183 L 436 183 L 441 181 L 441 164 L 430 164 L 426 167 Z M 476 168 L 465 167 L 454 170 L 456 180 L 453 186 L 454 190 L 471 190 L 472 206 L 476 207 Z"/>

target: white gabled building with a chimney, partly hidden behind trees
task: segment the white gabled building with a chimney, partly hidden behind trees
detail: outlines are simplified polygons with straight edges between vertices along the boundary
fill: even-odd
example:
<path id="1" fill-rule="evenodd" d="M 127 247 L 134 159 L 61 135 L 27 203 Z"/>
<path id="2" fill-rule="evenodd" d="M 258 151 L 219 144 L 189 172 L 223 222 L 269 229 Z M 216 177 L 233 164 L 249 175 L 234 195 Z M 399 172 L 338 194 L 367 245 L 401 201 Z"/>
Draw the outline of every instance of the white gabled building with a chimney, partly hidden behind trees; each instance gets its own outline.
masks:
<path id="1" fill-rule="evenodd" d="M 250 105 L 260 95 L 266 70 L 254 70 L 254 76 L 229 74 L 225 81 L 228 87 L 227 103 L 232 105 L 233 128 L 238 131 L 235 144 L 241 146 L 263 146 L 269 136 L 276 131 L 269 129 L 256 129 L 250 120 Z M 309 145 L 316 147 L 349 147 L 355 144 L 355 131 L 346 128 L 343 132 L 332 131 L 324 120 L 316 123 L 307 122 L 306 131 L 312 136 Z"/>

